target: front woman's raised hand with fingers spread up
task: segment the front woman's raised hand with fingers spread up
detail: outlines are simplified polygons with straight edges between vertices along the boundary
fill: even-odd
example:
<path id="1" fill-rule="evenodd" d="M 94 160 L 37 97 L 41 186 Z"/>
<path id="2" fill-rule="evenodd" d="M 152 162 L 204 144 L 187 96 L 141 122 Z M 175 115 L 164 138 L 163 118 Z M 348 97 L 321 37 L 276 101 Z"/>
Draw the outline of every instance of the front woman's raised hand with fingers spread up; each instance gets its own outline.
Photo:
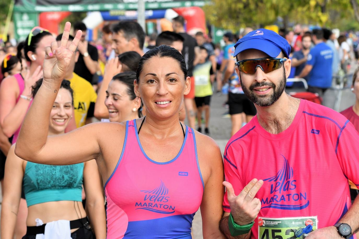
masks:
<path id="1" fill-rule="evenodd" d="M 79 44 L 81 37 L 81 30 L 78 30 L 75 39 L 72 41 L 69 48 L 67 42 L 69 41 L 71 23 L 68 21 L 65 24 L 64 33 L 62 33 L 61 45 L 57 42 L 52 42 L 51 47 L 45 49 L 45 60 L 43 63 L 43 79 L 50 83 L 59 84 L 66 75 L 71 58 L 73 57 L 76 47 Z"/>

